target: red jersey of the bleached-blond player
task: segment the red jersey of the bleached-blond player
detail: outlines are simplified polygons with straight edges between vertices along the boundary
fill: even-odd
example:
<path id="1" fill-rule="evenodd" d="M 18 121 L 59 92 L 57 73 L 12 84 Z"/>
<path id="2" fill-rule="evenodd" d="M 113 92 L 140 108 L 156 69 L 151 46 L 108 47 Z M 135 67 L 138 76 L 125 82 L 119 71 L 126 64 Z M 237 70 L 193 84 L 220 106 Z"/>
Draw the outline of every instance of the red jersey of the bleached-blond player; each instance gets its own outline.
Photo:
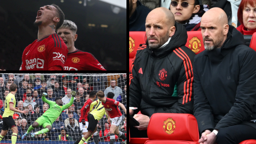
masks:
<path id="1" fill-rule="evenodd" d="M 68 53 L 68 58 L 64 64 L 64 70 L 80 71 L 80 70 L 98 70 L 105 71 L 100 62 L 91 53 L 76 49 L 74 52 Z"/>

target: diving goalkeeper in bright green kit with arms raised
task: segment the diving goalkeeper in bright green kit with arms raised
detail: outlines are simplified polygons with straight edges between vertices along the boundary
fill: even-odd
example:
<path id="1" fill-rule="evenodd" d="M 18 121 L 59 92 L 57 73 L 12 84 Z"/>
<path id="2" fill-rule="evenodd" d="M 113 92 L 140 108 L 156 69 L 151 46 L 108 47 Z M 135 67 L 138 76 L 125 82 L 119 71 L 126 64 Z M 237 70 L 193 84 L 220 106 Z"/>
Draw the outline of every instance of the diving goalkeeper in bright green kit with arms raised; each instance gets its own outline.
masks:
<path id="1" fill-rule="evenodd" d="M 35 120 L 35 122 L 28 128 L 28 131 L 22 136 L 22 140 L 24 140 L 26 136 L 29 134 L 29 132 L 33 130 L 35 127 L 43 126 L 44 129 L 35 133 L 31 133 L 32 138 L 37 134 L 43 134 L 51 131 L 53 122 L 59 117 L 61 112 L 73 104 L 75 94 L 76 92 L 72 91 L 72 98 L 70 102 L 68 104 L 63 105 L 63 102 L 60 98 L 56 98 L 55 102 L 47 100 L 45 98 L 45 96 L 47 96 L 47 93 L 44 92 L 42 95 L 42 100 L 49 104 L 49 109 L 41 117 Z"/>

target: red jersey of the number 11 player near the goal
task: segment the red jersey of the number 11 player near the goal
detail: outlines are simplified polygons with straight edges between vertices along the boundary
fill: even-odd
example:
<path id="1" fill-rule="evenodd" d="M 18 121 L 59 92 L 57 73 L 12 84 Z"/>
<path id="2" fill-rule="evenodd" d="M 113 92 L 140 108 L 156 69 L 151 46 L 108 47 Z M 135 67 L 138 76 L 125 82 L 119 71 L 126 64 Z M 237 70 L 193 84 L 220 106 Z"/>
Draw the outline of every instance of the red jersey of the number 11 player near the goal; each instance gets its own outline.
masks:
<path id="1" fill-rule="evenodd" d="M 119 101 L 116 101 L 116 100 L 113 100 L 110 98 L 106 98 L 105 103 L 102 102 L 102 105 L 104 106 L 104 108 L 109 112 L 110 118 L 122 116 L 122 114 L 118 108 L 118 104 L 119 104 Z"/>

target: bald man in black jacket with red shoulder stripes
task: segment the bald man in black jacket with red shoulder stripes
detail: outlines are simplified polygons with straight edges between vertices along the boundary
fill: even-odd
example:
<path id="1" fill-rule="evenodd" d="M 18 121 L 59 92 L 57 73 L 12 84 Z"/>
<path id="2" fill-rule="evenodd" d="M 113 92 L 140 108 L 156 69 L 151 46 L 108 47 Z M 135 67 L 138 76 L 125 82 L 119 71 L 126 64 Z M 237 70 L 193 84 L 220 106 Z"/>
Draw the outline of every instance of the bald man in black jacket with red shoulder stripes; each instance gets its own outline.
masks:
<path id="1" fill-rule="evenodd" d="M 145 26 L 147 42 L 137 49 L 129 74 L 129 106 L 138 107 L 134 114 L 142 113 L 134 115 L 140 126 L 130 127 L 133 137 L 147 137 L 154 113 L 192 114 L 194 104 L 191 62 L 195 53 L 185 46 L 185 27 L 162 7 L 147 15 Z"/>

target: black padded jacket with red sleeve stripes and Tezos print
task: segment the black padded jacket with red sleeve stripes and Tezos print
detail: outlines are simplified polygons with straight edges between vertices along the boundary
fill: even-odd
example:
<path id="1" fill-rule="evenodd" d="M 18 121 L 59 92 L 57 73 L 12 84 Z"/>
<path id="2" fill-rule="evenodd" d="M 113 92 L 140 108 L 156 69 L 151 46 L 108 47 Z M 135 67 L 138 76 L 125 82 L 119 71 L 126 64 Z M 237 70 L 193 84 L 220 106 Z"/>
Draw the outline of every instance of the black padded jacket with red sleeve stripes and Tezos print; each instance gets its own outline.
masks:
<path id="1" fill-rule="evenodd" d="M 175 34 L 162 48 L 139 47 L 129 74 L 129 106 L 134 113 L 193 113 L 195 53 L 185 46 L 187 31 L 175 23 Z"/>

